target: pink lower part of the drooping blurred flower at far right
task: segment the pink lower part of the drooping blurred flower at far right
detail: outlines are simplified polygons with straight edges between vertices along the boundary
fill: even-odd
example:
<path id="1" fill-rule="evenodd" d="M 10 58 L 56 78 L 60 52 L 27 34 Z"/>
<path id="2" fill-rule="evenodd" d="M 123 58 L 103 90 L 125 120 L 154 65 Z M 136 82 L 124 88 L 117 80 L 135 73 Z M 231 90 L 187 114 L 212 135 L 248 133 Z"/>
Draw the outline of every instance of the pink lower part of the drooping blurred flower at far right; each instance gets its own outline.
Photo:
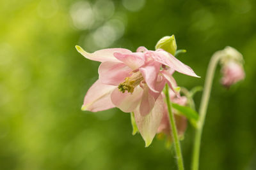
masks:
<path id="1" fill-rule="evenodd" d="M 245 77 L 243 66 L 235 61 L 227 62 L 221 69 L 223 77 L 221 78 L 221 83 L 225 87 L 230 87 L 237 81 L 243 80 Z"/>

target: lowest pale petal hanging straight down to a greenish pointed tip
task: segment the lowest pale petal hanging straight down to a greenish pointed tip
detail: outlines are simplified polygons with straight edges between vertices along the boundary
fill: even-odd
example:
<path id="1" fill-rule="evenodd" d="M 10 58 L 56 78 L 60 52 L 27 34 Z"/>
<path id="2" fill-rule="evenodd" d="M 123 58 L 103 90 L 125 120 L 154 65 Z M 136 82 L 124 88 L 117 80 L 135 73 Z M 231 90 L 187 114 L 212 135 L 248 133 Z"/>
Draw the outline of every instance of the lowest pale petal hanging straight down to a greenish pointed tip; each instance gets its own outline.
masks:
<path id="1" fill-rule="evenodd" d="M 157 98 L 154 108 L 147 116 L 143 117 L 140 114 L 139 108 L 136 108 L 136 110 L 134 110 L 135 121 L 140 131 L 140 134 L 145 141 L 146 147 L 152 143 L 152 140 L 156 135 L 157 129 L 163 117 L 163 108 L 163 97 L 159 96 Z"/>

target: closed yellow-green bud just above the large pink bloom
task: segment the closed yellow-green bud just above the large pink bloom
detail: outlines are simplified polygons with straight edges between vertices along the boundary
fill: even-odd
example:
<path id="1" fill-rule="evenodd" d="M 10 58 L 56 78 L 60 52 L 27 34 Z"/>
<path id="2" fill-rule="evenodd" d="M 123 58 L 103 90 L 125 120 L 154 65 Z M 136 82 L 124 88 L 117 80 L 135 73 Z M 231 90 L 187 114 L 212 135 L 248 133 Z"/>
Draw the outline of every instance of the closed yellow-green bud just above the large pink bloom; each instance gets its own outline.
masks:
<path id="1" fill-rule="evenodd" d="M 175 52 L 177 50 L 177 44 L 174 35 L 164 36 L 163 38 L 161 38 L 156 44 L 156 50 L 159 48 L 171 53 L 172 55 L 175 55 Z"/>

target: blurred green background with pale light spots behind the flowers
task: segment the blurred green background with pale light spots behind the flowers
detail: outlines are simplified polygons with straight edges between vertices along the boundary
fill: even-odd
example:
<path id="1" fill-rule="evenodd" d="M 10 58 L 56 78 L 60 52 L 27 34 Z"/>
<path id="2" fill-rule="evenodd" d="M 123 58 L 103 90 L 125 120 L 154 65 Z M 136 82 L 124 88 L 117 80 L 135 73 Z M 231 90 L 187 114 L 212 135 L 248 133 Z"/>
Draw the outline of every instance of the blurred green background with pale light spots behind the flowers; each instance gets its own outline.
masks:
<path id="1" fill-rule="evenodd" d="M 204 84 L 216 50 L 229 45 L 243 53 L 246 79 L 229 90 L 218 67 L 200 169 L 256 169 L 255 16 L 254 0 L 1 0 L 0 169 L 176 169 L 164 141 L 145 148 L 132 136 L 129 114 L 81 111 L 99 63 L 74 48 L 154 50 L 171 34 L 188 50 L 179 59 L 202 76 L 175 73 L 188 89 Z M 193 130 L 189 125 L 182 141 L 186 169 Z"/>

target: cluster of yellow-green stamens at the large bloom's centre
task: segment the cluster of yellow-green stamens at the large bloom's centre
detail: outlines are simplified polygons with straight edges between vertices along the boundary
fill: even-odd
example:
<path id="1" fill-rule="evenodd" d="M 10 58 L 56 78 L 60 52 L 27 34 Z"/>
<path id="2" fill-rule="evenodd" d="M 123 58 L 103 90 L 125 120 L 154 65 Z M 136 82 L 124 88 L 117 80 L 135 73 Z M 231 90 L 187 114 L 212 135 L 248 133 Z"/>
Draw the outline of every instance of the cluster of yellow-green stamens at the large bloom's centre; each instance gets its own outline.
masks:
<path id="1" fill-rule="evenodd" d="M 143 75 L 140 73 L 140 71 L 138 71 L 132 74 L 132 76 L 125 78 L 125 81 L 118 85 L 118 89 L 122 93 L 124 93 L 126 90 L 127 92 L 132 93 L 134 91 L 134 87 L 139 85 L 142 80 Z"/>

